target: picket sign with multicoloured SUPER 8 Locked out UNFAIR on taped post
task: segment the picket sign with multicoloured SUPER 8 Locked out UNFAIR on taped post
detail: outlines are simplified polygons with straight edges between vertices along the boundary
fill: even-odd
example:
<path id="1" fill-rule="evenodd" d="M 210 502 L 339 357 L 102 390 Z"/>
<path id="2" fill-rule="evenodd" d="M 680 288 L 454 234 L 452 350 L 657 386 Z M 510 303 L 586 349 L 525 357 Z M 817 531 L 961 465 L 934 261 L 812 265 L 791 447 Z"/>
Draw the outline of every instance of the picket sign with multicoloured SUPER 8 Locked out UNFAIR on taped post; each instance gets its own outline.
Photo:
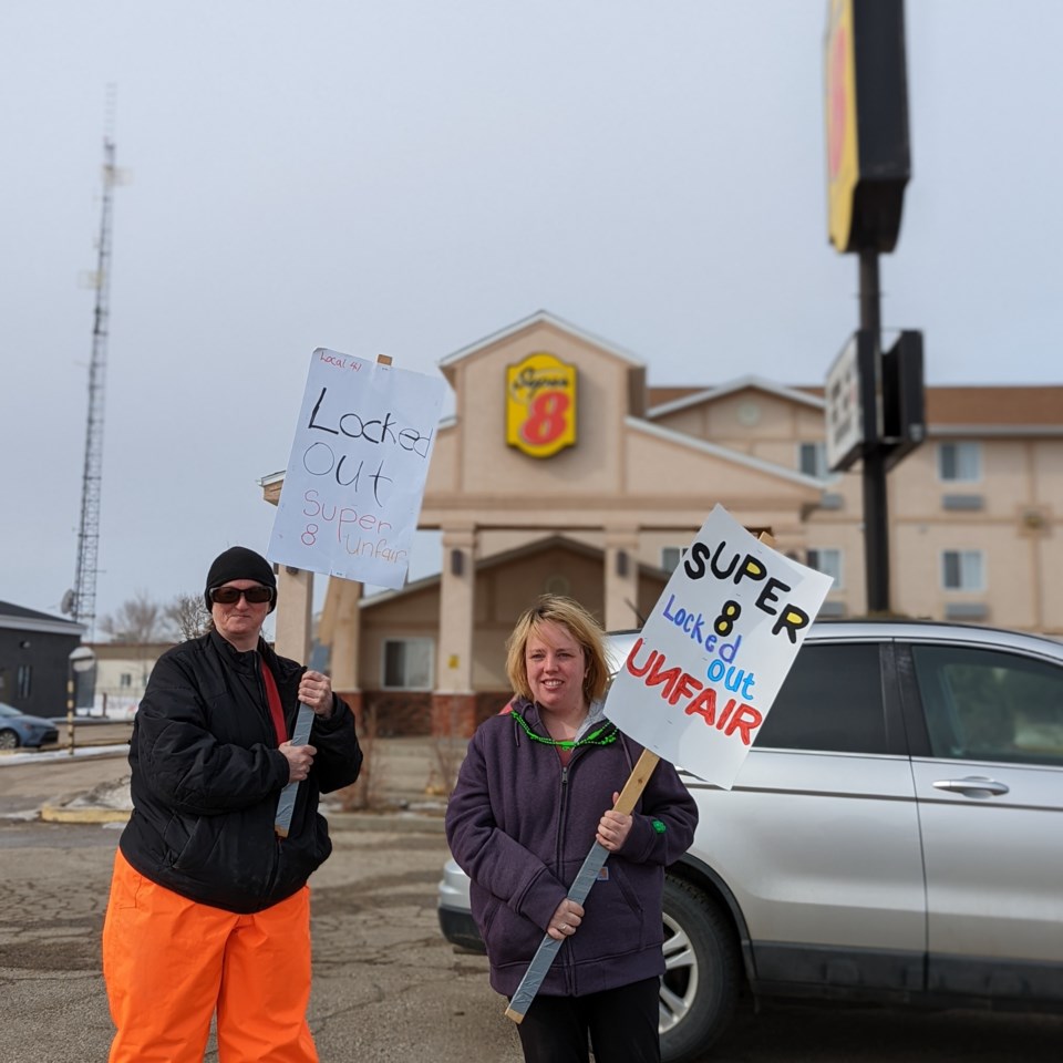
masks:
<path id="1" fill-rule="evenodd" d="M 830 582 L 722 506 L 709 514 L 609 691 L 606 715 L 646 747 L 618 812 L 632 812 L 662 758 L 731 788 Z M 608 856 L 596 842 L 570 899 L 584 902 Z M 515 1022 L 561 945 L 543 938 L 506 1009 Z"/>

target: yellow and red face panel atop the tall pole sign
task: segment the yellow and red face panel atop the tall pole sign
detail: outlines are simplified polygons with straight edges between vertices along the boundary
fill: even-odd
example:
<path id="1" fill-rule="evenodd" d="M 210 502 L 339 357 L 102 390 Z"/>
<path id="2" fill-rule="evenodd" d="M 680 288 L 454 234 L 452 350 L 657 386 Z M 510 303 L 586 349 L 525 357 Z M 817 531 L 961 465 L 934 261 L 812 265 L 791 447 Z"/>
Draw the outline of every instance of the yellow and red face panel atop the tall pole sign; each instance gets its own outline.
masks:
<path id="1" fill-rule="evenodd" d="M 860 178 L 856 124 L 853 0 L 829 0 L 826 41 L 827 214 L 830 242 L 849 250 L 853 197 Z"/>

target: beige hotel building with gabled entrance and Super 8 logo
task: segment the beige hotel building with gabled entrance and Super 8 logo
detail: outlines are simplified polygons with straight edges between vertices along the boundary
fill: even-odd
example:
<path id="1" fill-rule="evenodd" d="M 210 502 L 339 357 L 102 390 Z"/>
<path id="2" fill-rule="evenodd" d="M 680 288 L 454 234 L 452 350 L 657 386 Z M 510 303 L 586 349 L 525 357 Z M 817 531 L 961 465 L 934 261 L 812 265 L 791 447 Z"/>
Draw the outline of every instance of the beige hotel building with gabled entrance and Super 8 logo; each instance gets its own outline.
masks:
<path id="1" fill-rule="evenodd" d="M 380 733 L 467 734 L 508 696 L 504 641 L 544 592 L 639 625 L 723 505 L 834 577 L 821 617 L 866 610 L 859 465 L 825 466 L 822 385 L 653 386 L 615 344 L 539 312 L 440 362 L 420 527 L 440 572 L 318 625 L 337 690 Z M 691 376 L 698 375 L 692 367 Z M 927 436 L 889 474 L 891 611 L 1063 636 L 1063 385 L 930 386 Z M 262 479 L 280 497 L 283 474 Z M 305 658 L 313 577 L 282 570 L 277 643 Z"/>

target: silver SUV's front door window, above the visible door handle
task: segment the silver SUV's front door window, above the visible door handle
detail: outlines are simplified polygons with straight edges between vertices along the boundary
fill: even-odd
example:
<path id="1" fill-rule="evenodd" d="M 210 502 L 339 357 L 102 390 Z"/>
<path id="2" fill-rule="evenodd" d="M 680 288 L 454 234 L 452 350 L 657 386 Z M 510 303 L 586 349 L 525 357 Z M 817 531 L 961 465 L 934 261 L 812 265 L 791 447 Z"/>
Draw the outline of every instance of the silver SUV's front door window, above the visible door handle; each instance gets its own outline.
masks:
<path id="1" fill-rule="evenodd" d="M 998 650 L 914 646 L 935 756 L 1063 765 L 1063 669 Z"/>

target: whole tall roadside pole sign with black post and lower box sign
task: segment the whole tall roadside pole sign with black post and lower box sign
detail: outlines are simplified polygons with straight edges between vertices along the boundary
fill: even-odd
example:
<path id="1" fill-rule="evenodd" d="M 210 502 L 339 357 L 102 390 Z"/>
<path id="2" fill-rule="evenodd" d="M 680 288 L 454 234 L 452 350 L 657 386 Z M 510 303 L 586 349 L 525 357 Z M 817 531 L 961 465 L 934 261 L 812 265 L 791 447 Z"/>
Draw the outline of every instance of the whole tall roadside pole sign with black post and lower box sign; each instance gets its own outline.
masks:
<path id="1" fill-rule="evenodd" d="M 859 331 L 827 380 L 828 454 L 835 471 L 863 463 L 867 610 L 888 612 L 886 472 L 922 438 L 922 339 L 902 333 L 884 368 L 878 283 L 911 174 L 904 0 L 828 0 L 824 70 L 827 231 L 839 252 L 859 255 L 860 282 Z"/>

